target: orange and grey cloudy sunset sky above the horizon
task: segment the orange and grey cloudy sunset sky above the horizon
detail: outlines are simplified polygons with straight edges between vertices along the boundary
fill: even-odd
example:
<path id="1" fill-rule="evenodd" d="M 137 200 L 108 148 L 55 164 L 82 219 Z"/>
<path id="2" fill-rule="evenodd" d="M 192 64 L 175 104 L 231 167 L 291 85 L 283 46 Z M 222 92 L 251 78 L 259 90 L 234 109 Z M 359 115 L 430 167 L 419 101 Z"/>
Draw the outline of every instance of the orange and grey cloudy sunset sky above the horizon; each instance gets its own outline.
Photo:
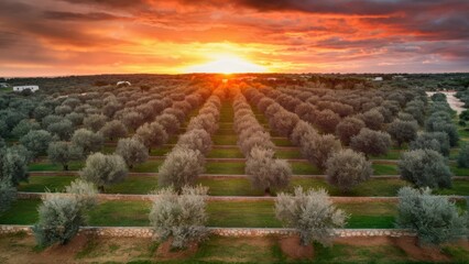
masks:
<path id="1" fill-rule="evenodd" d="M 0 0 L 0 76 L 469 72 L 468 0 Z"/>

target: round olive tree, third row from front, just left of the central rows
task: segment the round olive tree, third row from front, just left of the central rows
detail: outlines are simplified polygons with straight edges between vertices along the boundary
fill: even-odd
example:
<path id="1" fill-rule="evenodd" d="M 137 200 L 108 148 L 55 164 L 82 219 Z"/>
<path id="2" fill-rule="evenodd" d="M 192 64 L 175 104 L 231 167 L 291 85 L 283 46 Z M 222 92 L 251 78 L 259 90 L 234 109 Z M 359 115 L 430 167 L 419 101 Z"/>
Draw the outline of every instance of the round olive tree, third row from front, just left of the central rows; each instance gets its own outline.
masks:
<path id="1" fill-rule="evenodd" d="M 142 142 L 135 139 L 120 139 L 116 148 L 126 161 L 126 164 L 132 168 L 134 164 L 141 164 L 149 158 L 149 152 Z"/>

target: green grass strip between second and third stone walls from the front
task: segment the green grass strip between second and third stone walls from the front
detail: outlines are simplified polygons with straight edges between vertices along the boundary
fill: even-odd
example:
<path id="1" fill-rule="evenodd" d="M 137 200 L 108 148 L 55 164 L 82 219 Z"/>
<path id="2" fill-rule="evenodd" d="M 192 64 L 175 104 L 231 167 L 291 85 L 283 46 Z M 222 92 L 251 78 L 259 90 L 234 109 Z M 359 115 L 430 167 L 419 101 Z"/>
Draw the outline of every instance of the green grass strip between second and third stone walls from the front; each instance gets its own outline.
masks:
<path id="1" fill-rule="evenodd" d="M 31 177 L 30 183 L 22 183 L 20 191 L 42 193 L 46 189 L 51 191 L 63 191 L 65 186 L 74 180 L 75 176 L 36 176 Z M 253 189 L 247 178 L 200 178 L 199 184 L 209 188 L 211 196 L 262 196 L 262 190 Z M 347 194 L 340 193 L 336 187 L 327 184 L 326 179 L 317 178 L 294 178 L 291 186 L 284 191 L 293 191 L 296 186 L 303 188 L 325 188 L 331 196 L 396 196 L 397 190 L 408 185 L 401 179 L 370 179 L 356 186 Z M 156 177 L 128 177 L 123 183 L 106 188 L 107 194 L 134 194 L 145 195 L 157 188 Z M 451 189 L 435 190 L 441 195 L 469 196 L 469 180 L 454 180 Z"/>

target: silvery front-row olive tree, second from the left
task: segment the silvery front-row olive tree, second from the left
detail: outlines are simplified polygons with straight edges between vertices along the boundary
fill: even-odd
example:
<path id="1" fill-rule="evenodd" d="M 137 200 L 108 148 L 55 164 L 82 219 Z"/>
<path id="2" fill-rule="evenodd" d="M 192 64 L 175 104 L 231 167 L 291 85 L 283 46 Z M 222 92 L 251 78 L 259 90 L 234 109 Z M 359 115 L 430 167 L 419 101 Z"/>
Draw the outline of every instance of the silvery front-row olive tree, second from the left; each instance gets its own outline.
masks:
<path id="1" fill-rule="evenodd" d="M 172 248 L 183 249 L 207 237 L 206 187 L 183 187 L 179 196 L 171 188 L 155 195 L 149 218 L 161 241 L 172 237 Z"/>

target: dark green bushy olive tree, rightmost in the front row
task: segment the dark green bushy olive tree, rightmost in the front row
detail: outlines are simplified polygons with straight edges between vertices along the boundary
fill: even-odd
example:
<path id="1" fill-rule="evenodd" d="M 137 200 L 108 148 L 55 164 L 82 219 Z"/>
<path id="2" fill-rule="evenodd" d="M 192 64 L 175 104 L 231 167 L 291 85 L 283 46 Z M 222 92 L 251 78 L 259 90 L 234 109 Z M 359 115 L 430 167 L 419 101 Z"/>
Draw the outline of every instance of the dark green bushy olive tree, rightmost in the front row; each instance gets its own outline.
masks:
<path id="1" fill-rule="evenodd" d="M 459 215 L 447 197 L 433 196 L 428 188 L 403 187 L 399 198 L 397 227 L 415 231 L 421 244 L 439 245 L 467 232 L 467 212 Z"/>

